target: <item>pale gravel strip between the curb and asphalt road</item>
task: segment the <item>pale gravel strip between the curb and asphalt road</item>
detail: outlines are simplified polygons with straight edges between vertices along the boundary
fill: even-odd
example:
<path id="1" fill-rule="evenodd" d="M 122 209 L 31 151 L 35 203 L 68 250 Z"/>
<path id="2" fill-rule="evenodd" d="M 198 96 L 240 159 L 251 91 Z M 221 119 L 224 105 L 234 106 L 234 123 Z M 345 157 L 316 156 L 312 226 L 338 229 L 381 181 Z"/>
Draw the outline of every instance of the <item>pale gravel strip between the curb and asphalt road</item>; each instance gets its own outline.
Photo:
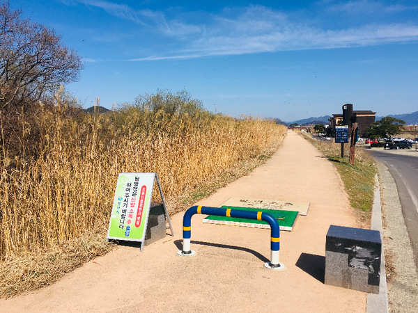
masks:
<path id="1" fill-rule="evenodd" d="M 396 183 L 387 166 L 377 162 L 382 202 L 383 244 L 389 312 L 417 312 L 418 273 L 403 220 Z"/>

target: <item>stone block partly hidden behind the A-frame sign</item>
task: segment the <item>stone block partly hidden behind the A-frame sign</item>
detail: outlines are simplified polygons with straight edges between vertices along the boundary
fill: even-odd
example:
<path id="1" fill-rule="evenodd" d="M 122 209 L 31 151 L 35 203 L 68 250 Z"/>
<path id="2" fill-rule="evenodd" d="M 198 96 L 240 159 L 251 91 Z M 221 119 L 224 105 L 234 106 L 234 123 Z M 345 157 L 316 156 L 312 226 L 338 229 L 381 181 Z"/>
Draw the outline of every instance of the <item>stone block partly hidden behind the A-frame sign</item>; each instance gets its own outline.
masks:
<path id="1" fill-rule="evenodd" d="M 151 202 L 144 246 L 163 239 L 167 234 L 166 216 L 162 203 Z"/>

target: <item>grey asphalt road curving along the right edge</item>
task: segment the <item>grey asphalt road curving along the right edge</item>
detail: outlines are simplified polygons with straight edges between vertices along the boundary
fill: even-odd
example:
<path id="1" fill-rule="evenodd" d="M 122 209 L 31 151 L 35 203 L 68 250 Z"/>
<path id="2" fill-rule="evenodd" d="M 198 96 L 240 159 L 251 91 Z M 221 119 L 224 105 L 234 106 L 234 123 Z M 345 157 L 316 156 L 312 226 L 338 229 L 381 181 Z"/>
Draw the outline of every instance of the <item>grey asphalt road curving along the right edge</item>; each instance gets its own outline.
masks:
<path id="1" fill-rule="evenodd" d="M 418 152 L 415 149 L 373 149 L 371 154 L 377 161 L 384 163 L 394 177 L 418 268 Z"/>

